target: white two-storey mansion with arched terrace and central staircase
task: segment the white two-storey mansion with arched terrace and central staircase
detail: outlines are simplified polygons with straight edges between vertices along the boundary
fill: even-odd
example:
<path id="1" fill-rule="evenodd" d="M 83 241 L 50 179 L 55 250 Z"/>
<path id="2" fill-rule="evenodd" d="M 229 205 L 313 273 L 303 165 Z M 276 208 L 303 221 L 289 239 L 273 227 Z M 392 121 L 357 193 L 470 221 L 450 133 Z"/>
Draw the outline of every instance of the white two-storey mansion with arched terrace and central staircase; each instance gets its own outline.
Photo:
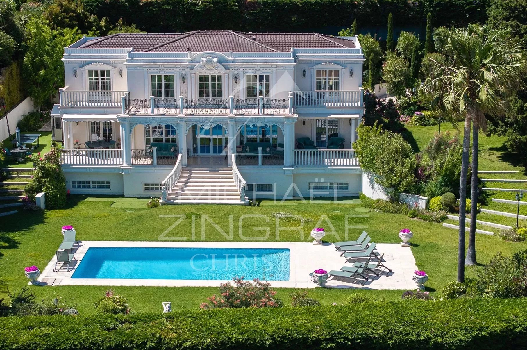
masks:
<path id="1" fill-rule="evenodd" d="M 114 34 L 64 49 L 54 137 L 71 193 L 168 203 L 357 195 L 357 37 Z"/>

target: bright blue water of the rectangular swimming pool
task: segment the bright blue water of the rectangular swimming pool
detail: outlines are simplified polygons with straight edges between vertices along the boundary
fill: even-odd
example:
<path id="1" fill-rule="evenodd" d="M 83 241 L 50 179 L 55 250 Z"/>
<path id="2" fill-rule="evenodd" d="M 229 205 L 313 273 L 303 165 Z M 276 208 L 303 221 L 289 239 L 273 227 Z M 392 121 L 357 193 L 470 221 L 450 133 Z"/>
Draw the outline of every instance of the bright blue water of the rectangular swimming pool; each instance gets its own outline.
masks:
<path id="1" fill-rule="evenodd" d="M 72 278 L 289 280 L 289 249 L 91 247 Z"/>

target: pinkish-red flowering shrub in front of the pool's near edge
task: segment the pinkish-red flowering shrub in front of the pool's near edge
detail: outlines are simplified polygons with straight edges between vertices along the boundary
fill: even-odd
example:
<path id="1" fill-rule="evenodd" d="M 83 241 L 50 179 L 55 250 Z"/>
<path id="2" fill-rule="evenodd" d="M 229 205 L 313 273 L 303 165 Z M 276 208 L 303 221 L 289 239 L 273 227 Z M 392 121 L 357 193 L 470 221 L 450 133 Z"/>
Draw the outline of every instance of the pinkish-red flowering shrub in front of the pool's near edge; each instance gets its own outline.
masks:
<path id="1" fill-rule="evenodd" d="M 202 309 L 238 308 L 238 307 L 281 307 L 282 301 L 275 298 L 276 291 L 269 289 L 268 282 L 255 278 L 252 282 L 241 278 L 233 278 L 231 282 L 220 284 L 220 295 L 207 298 L 207 303 L 202 303 Z"/>

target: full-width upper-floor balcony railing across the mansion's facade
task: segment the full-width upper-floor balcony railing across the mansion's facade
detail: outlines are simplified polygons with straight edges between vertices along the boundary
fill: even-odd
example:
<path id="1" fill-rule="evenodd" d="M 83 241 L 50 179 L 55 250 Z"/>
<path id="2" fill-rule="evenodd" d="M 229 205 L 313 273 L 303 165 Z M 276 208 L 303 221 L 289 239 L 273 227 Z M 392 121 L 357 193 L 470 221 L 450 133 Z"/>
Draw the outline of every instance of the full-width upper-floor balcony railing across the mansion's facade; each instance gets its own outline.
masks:
<path id="1" fill-rule="evenodd" d="M 131 98 L 127 91 L 71 91 L 60 89 L 61 107 L 115 109 L 133 115 L 290 115 L 320 109 L 362 109 L 363 90 L 358 91 L 294 91 L 287 99 L 148 99 Z"/>

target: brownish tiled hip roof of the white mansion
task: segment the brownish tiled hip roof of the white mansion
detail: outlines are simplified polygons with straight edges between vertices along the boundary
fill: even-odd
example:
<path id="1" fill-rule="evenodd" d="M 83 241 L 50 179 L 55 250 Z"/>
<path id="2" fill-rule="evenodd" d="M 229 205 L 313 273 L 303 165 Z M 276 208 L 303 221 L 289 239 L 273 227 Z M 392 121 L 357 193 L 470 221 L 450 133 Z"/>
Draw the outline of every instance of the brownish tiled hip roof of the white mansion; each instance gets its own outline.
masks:
<path id="1" fill-rule="evenodd" d="M 355 47 L 353 41 L 317 33 L 187 33 L 113 34 L 89 40 L 80 48 L 131 48 L 136 52 L 288 52 L 296 48 Z"/>

